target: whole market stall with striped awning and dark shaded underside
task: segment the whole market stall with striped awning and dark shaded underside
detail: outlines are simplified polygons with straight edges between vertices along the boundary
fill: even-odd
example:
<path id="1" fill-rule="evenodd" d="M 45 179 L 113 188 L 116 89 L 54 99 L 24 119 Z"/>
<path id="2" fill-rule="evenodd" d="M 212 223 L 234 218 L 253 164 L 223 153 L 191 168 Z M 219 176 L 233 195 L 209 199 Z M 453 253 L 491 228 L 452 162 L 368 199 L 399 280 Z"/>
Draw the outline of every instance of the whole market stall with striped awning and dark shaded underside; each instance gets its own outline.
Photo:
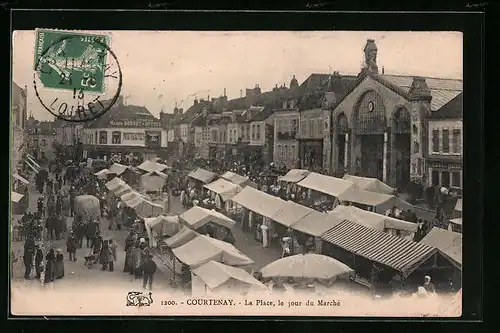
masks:
<path id="1" fill-rule="evenodd" d="M 348 220 L 325 232 L 321 239 L 323 254 L 352 267 L 375 289 L 389 288 L 396 276 L 408 290 L 416 290 L 425 275 L 432 276 L 436 284 L 443 283 L 447 277 L 435 273 L 452 265 L 435 247 Z"/>

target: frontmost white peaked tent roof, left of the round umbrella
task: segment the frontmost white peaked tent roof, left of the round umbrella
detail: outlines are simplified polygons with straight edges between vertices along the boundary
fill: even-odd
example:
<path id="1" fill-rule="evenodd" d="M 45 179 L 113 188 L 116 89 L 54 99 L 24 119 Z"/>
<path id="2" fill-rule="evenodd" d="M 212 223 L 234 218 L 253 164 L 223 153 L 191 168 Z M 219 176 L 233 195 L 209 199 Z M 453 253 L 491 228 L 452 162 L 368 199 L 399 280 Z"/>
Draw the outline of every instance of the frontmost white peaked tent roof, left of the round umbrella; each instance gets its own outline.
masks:
<path id="1" fill-rule="evenodd" d="M 193 270 L 193 274 L 198 276 L 210 289 L 217 288 L 231 279 L 267 288 L 243 269 L 224 265 L 213 260 Z"/>

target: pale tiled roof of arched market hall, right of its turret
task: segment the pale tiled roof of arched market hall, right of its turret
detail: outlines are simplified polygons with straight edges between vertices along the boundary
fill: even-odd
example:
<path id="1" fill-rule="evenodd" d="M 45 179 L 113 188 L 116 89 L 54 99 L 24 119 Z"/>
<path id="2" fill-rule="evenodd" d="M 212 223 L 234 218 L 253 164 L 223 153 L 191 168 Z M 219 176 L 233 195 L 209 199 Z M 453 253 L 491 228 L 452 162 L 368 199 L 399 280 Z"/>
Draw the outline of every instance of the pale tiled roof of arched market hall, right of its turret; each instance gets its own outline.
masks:
<path id="1" fill-rule="evenodd" d="M 403 75 L 379 75 L 393 85 L 401 87 L 406 93 L 409 92 L 413 82 L 413 76 Z M 431 110 L 439 110 L 463 91 L 463 80 L 442 79 L 425 77 L 425 82 L 431 90 Z"/>

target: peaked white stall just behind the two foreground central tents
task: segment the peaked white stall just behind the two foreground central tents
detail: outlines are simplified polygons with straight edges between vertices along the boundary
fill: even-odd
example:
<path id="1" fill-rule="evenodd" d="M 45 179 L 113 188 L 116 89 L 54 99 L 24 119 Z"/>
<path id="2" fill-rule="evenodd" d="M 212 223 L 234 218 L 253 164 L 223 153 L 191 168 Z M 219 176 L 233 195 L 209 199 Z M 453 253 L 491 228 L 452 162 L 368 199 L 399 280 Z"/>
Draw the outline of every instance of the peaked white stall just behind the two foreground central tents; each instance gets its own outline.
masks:
<path id="1" fill-rule="evenodd" d="M 220 240 L 232 237 L 231 229 L 235 225 L 234 220 L 224 214 L 199 206 L 194 206 L 179 215 L 179 220 L 192 230 Z"/>

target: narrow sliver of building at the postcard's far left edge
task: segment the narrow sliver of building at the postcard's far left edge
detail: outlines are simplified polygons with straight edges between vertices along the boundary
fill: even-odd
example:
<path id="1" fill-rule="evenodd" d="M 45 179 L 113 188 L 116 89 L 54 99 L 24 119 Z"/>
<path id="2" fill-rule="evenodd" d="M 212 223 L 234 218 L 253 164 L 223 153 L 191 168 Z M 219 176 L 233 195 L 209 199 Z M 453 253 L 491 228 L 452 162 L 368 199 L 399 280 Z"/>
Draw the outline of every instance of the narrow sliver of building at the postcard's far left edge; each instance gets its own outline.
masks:
<path id="1" fill-rule="evenodd" d="M 27 121 L 27 87 L 24 89 L 16 83 L 12 83 L 12 100 L 11 100 L 11 145 L 10 159 L 11 168 L 15 172 L 21 168 L 20 161 L 22 158 L 23 148 L 25 144 L 25 125 Z"/>

